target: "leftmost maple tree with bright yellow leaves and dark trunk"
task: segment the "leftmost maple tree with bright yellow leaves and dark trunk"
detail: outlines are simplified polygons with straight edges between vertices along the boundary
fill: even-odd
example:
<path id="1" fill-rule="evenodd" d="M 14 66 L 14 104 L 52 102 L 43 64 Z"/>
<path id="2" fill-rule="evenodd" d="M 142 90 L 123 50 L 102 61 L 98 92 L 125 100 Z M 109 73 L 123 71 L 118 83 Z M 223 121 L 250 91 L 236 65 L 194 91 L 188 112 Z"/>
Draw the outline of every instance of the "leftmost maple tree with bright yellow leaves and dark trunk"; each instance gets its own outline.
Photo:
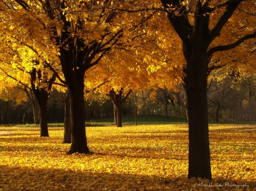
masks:
<path id="1" fill-rule="evenodd" d="M 23 46 L 15 37 L 2 37 L 2 42 L 5 46 L 2 49 L 2 64 L 1 71 L 4 76 L 13 80 L 14 84 L 18 83 L 23 86 L 22 90 L 30 99 L 34 108 L 34 116 L 36 115 L 36 101 L 29 91 L 32 91 L 38 101 L 39 117 L 40 117 L 40 136 L 48 137 L 47 125 L 47 100 L 51 92 L 52 84 L 55 81 L 55 74 L 51 71 L 44 70 L 42 62 L 33 60 L 35 58 L 36 50 L 32 49 L 30 45 Z M 8 43 L 8 44 L 7 44 Z M 19 44 L 21 44 L 19 46 Z M 6 51 L 7 50 L 7 51 Z"/>

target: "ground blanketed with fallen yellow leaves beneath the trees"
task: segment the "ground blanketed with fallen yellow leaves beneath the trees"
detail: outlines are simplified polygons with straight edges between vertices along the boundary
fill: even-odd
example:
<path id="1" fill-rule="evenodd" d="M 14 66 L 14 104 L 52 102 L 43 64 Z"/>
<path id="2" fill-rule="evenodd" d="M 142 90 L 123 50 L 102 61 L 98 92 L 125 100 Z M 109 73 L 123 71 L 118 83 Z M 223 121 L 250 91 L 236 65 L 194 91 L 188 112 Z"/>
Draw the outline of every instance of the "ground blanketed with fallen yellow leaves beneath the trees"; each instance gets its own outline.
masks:
<path id="1" fill-rule="evenodd" d="M 67 155 L 63 128 L 0 127 L 2 190 L 256 190 L 256 127 L 210 126 L 213 179 L 187 179 L 188 127 L 86 128 L 92 155 Z"/>

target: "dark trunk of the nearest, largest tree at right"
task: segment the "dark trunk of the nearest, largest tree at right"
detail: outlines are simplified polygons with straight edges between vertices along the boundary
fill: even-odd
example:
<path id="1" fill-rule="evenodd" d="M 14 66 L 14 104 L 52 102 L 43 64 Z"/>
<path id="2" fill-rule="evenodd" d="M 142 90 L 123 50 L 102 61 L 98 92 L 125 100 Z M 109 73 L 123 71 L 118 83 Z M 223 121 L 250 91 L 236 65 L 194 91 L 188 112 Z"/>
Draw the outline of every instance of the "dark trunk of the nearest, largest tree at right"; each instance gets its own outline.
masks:
<path id="1" fill-rule="evenodd" d="M 192 39 L 191 41 L 196 41 Z M 189 126 L 188 179 L 212 179 L 207 105 L 207 49 L 203 43 L 192 43 L 193 53 L 187 60 L 187 99 Z M 202 47 L 203 46 L 203 47 Z M 187 47 L 188 50 L 189 47 Z"/>

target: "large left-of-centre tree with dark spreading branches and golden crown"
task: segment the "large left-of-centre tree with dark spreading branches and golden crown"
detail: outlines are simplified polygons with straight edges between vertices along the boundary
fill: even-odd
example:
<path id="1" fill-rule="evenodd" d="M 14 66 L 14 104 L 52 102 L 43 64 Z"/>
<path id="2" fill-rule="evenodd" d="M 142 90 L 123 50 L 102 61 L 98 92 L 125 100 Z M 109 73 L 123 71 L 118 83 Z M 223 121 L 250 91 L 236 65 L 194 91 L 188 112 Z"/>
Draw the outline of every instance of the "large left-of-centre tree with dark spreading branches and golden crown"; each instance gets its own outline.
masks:
<path id="1" fill-rule="evenodd" d="M 138 5 L 126 4 L 126 10 L 144 6 L 141 2 Z M 32 48 L 40 50 L 37 51 L 40 57 L 47 58 L 44 63 L 68 88 L 72 129 L 72 145 L 68 154 L 88 153 L 84 104 L 81 104 L 84 101 L 85 71 L 101 60 L 111 62 L 105 57 L 110 50 L 121 52 L 124 45 L 135 49 L 131 40 L 134 44 L 134 40 L 143 35 L 138 30 L 133 33 L 129 28 L 136 26 L 135 22 L 141 23 L 141 17 L 146 18 L 118 11 L 123 2 L 17 0 L 2 3 L 1 6 L 10 15 L 13 26 L 22 29 L 28 39 L 34 40 Z M 111 8 L 105 9 L 106 6 Z M 52 52 L 42 53 L 44 49 Z M 59 62 L 51 61 L 56 60 L 56 56 Z"/>

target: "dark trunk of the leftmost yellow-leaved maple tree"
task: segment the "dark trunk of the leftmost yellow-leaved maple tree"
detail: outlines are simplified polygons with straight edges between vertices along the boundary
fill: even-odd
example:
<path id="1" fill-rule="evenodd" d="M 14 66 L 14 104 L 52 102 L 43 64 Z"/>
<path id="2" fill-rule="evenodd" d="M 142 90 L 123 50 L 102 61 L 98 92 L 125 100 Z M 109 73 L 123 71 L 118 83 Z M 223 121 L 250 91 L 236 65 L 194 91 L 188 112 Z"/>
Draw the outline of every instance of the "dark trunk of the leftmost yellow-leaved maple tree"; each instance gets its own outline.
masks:
<path id="1" fill-rule="evenodd" d="M 48 93 L 46 91 L 39 92 L 38 104 L 40 113 L 40 137 L 49 137 L 47 125 L 47 100 Z"/>

